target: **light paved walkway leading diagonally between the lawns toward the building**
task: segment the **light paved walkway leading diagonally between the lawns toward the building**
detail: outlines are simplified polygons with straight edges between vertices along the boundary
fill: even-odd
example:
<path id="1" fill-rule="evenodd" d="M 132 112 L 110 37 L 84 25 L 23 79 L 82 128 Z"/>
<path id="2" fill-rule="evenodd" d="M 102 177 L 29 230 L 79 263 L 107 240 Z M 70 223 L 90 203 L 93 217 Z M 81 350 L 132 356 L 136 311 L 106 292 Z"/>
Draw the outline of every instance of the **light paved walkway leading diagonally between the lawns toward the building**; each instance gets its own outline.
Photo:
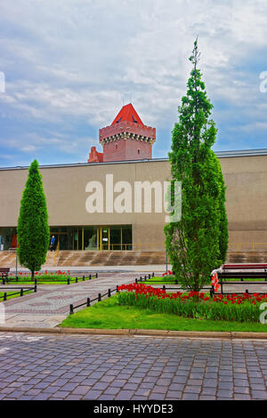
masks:
<path id="1" fill-rule="evenodd" d="M 72 285 L 38 285 L 37 293 L 4 301 L 4 326 L 53 327 L 69 315 L 70 303 L 78 305 L 117 285 L 134 282 L 134 273 L 100 273 L 99 278 Z M 138 276 L 137 276 L 138 277 Z M 8 285 L 4 287 L 8 291 Z"/>

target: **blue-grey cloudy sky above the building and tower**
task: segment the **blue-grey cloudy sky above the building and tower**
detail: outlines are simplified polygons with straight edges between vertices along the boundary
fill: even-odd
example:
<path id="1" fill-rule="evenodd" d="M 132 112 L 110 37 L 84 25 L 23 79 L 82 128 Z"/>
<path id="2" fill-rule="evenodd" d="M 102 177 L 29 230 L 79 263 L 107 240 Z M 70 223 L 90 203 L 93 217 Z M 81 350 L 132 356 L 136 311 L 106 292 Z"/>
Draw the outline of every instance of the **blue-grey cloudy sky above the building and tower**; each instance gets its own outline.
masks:
<path id="1" fill-rule="evenodd" d="M 214 149 L 267 148 L 266 0 L 2 0 L 0 166 L 85 162 L 130 100 L 166 157 L 196 36 Z"/>

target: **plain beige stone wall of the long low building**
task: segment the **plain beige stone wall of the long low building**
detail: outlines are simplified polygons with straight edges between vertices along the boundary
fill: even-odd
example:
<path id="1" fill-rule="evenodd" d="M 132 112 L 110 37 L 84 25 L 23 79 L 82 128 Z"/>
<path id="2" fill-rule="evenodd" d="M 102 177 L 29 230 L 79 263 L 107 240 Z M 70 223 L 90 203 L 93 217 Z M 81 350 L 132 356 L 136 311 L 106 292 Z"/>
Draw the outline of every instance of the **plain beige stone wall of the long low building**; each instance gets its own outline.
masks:
<path id="1" fill-rule="evenodd" d="M 267 156 L 220 159 L 227 184 L 231 243 L 267 243 Z M 136 249 L 164 248 L 165 213 L 87 213 L 88 181 L 166 181 L 167 161 L 42 168 L 51 226 L 133 225 Z M 0 228 L 17 225 L 28 170 L 0 171 Z M 116 194 L 115 194 L 116 196 Z M 134 202 L 134 196 L 133 196 Z M 1 233 L 1 231 L 0 231 Z M 267 245 L 266 245 L 267 246 Z"/>

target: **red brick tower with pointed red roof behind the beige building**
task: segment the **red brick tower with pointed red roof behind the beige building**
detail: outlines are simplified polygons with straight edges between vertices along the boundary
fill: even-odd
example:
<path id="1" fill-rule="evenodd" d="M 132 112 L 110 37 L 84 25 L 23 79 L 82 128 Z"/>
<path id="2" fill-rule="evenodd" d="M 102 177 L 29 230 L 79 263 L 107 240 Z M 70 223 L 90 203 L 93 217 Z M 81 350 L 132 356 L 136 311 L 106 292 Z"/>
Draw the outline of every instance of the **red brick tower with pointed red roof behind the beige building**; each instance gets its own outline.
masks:
<path id="1" fill-rule="evenodd" d="M 156 128 L 143 125 L 134 106 L 129 103 L 117 114 L 111 125 L 100 129 L 103 162 L 152 158 Z"/>

